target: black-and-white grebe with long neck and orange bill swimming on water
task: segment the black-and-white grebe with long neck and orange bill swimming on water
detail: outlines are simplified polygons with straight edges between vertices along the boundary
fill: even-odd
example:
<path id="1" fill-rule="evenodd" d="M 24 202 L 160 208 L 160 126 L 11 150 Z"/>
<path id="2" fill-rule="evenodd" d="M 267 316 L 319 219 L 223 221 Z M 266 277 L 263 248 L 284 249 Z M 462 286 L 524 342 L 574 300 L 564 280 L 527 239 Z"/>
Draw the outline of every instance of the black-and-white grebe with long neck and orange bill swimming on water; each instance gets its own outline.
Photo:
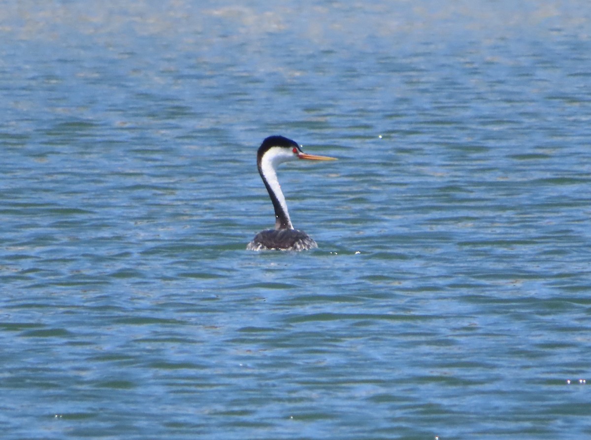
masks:
<path id="1" fill-rule="evenodd" d="M 275 208 L 275 229 L 267 229 L 256 234 L 246 249 L 307 250 L 318 247 L 308 234 L 294 229 L 285 197 L 277 180 L 275 171 L 277 165 L 294 159 L 335 160 L 332 157 L 306 154 L 301 151 L 296 142 L 283 136 L 269 136 L 265 139 L 256 154 L 256 165 Z"/>

